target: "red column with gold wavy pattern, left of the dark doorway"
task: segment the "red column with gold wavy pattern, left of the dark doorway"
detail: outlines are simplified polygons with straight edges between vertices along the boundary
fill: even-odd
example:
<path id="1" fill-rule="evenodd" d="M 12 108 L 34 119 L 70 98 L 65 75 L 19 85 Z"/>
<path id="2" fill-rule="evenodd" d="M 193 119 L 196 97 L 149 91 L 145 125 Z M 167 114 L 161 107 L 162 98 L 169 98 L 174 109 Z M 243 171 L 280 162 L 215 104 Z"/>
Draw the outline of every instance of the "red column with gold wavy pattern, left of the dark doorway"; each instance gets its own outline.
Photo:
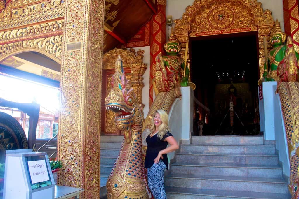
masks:
<path id="1" fill-rule="evenodd" d="M 157 1 L 157 14 L 151 19 L 150 30 L 150 77 L 149 77 L 149 107 L 153 103 L 154 89 L 152 79 L 156 72 L 155 58 L 159 53 L 165 55 L 166 43 L 166 0 Z"/>

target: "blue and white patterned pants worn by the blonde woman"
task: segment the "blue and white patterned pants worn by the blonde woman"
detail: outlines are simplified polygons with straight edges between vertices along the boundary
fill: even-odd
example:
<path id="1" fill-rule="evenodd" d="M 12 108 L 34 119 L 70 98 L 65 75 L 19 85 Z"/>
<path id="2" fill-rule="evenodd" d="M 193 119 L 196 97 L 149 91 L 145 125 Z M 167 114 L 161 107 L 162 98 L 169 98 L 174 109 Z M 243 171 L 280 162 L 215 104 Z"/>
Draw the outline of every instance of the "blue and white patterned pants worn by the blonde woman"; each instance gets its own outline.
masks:
<path id="1" fill-rule="evenodd" d="M 163 161 L 153 164 L 147 169 L 147 179 L 149 189 L 155 199 L 167 199 L 164 189 L 164 169 L 166 168 Z"/>

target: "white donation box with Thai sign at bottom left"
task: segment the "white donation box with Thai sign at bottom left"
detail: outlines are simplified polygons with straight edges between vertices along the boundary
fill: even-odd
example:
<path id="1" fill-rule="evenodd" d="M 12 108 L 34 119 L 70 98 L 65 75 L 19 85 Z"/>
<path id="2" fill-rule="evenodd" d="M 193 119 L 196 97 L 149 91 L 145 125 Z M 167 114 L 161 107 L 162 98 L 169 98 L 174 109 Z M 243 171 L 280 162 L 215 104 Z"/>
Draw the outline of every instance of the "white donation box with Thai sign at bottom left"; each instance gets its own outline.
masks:
<path id="1" fill-rule="evenodd" d="M 47 153 L 6 151 L 4 199 L 54 199 L 54 186 Z"/>

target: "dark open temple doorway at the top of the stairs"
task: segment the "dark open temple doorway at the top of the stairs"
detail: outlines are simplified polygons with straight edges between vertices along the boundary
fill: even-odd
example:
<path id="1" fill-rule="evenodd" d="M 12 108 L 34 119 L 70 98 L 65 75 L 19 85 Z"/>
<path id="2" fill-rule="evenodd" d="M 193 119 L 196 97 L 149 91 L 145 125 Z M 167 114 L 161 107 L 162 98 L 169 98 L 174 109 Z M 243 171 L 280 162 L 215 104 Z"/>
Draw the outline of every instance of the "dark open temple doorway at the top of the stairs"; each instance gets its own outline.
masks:
<path id="1" fill-rule="evenodd" d="M 256 32 L 191 40 L 194 135 L 260 132 Z"/>

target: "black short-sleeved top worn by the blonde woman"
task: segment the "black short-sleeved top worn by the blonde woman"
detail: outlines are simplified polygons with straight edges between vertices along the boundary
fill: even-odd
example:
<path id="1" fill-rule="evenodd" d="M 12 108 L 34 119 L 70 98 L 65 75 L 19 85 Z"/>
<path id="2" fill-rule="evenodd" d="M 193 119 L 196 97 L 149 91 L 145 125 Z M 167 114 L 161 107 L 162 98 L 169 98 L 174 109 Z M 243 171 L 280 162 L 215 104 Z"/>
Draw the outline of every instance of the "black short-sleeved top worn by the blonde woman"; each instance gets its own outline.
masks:
<path id="1" fill-rule="evenodd" d="M 167 131 L 167 133 L 161 140 L 158 137 L 158 133 L 156 133 L 152 137 L 150 137 L 149 135 L 147 136 L 147 138 L 145 139 L 145 141 L 147 142 L 147 154 L 145 155 L 144 168 L 150 168 L 154 164 L 154 159 L 158 156 L 159 151 L 166 149 L 168 142 L 163 140 L 169 136 L 172 136 L 169 131 Z M 162 156 L 162 161 L 164 162 L 168 170 L 167 154 L 163 154 Z"/>

